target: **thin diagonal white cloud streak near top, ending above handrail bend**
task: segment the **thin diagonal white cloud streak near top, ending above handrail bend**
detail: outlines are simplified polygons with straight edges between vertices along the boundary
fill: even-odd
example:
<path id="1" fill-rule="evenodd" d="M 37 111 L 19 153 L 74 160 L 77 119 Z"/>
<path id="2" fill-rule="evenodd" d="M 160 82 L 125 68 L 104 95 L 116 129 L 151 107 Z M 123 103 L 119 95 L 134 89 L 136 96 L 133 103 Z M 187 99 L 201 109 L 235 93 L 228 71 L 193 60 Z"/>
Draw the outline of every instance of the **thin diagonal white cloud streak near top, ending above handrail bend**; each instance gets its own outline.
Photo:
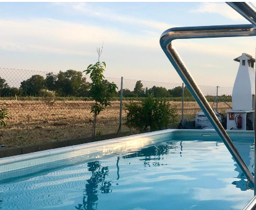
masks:
<path id="1" fill-rule="evenodd" d="M 113 14 L 113 12 L 102 9 L 102 8 L 93 8 L 90 4 L 85 2 L 54 2 L 53 5 L 55 6 L 62 6 L 66 8 L 72 8 L 75 11 L 82 12 L 84 15 L 92 16 L 92 17 L 99 17 L 104 20 L 128 23 L 128 24 L 135 24 L 135 25 L 142 25 L 145 27 L 155 28 L 156 30 L 167 30 L 168 28 L 174 27 L 174 25 L 170 25 L 164 22 L 156 22 L 153 20 L 142 20 L 142 19 L 135 19 L 134 17 L 126 17 L 123 15 Z"/>

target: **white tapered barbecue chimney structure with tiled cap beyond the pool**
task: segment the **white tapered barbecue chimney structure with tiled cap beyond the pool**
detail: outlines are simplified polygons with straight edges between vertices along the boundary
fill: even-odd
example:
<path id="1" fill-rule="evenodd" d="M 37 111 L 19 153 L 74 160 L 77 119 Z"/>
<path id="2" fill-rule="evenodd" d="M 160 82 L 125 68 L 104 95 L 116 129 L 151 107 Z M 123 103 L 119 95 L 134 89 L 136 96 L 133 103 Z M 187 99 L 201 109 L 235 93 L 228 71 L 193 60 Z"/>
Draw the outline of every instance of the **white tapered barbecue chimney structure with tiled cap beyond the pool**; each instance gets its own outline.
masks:
<path id="1" fill-rule="evenodd" d="M 234 61 L 240 62 L 240 65 L 232 93 L 233 110 L 227 111 L 227 129 L 247 130 L 248 119 L 252 121 L 252 127 L 254 127 L 255 59 L 249 54 L 242 53 L 242 56 L 237 57 Z M 242 121 L 241 128 L 237 125 L 241 123 L 237 117 Z"/>

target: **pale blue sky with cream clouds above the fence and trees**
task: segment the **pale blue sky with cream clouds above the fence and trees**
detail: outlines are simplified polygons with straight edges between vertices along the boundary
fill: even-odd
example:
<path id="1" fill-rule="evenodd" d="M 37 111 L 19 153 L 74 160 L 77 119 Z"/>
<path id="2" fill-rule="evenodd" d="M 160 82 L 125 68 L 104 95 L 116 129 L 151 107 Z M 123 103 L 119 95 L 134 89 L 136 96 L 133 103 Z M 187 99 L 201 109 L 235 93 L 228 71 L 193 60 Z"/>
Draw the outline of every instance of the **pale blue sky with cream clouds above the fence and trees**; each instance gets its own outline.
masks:
<path id="1" fill-rule="evenodd" d="M 224 2 L 0 2 L 0 67 L 83 71 L 103 51 L 105 77 L 181 83 L 160 47 L 172 27 L 248 24 Z M 198 85 L 232 87 L 256 37 L 175 40 Z M 1 75 L 0 75 L 1 77 Z"/>

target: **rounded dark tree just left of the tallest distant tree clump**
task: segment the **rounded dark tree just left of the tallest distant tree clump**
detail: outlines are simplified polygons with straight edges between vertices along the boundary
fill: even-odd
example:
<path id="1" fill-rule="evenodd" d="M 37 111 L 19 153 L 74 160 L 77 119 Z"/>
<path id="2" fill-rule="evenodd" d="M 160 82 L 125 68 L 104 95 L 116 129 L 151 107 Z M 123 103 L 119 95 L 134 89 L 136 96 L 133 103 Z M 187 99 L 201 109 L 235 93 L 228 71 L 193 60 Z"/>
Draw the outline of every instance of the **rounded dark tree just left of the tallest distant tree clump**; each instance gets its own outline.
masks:
<path id="1" fill-rule="evenodd" d="M 38 96 L 41 89 L 45 88 L 45 78 L 41 75 L 33 75 L 21 82 L 20 89 L 22 89 L 23 94 Z"/>

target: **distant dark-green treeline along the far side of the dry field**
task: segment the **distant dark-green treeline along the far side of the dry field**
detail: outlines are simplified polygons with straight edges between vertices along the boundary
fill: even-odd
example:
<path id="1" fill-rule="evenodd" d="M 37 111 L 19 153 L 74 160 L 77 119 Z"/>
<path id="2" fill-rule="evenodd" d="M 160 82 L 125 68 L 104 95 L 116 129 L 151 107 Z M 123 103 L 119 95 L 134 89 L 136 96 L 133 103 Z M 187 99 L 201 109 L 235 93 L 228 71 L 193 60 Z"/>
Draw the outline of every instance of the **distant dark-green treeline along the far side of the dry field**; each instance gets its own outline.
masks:
<path id="1" fill-rule="evenodd" d="M 107 82 L 107 80 L 102 81 Z M 47 73 L 46 78 L 41 75 L 32 77 L 20 83 L 19 88 L 11 87 L 4 78 L 0 77 L 0 97 L 5 99 L 39 100 L 40 97 L 56 98 L 56 100 L 90 100 L 89 82 L 83 77 L 82 72 L 76 70 L 60 71 L 59 73 Z M 113 100 L 119 100 L 120 92 L 113 93 Z M 177 86 L 167 90 L 162 86 L 143 88 L 141 80 L 137 81 L 134 90 L 123 89 L 124 100 L 141 100 L 153 94 L 155 98 L 166 98 L 168 101 L 181 101 L 182 87 Z M 37 98 L 39 97 L 39 98 Z M 214 101 L 215 96 L 207 96 L 209 101 Z M 64 99 L 66 98 L 66 99 Z M 185 101 L 194 101 L 192 94 L 184 88 Z M 231 101 L 231 96 L 222 96 L 225 101 Z"/>

